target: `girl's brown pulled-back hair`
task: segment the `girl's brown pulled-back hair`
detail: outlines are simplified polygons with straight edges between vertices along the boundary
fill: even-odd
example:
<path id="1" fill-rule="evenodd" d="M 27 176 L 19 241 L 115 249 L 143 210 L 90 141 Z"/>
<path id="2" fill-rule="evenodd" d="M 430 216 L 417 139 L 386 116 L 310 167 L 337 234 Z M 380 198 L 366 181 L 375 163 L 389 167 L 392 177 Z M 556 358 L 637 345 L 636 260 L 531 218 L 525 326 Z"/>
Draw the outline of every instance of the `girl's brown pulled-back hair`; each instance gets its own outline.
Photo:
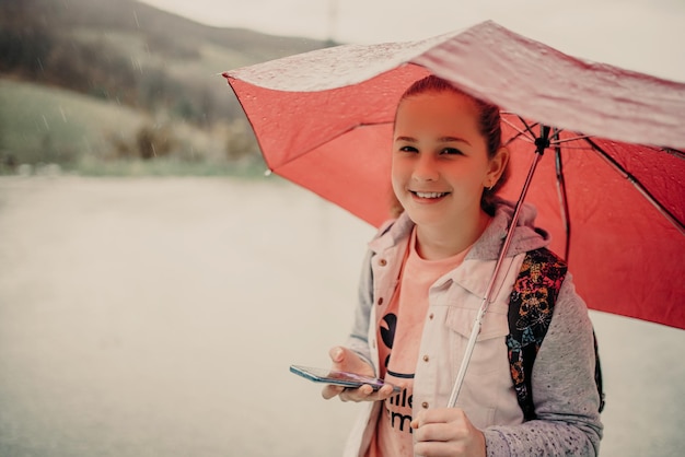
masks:
<path id="1" fill-rule="evenodd" d="M 461 89 L 455 87 L 449 81 L 433 74 L 420 79 L 411 84 L 399 98 L 399 104 L 402 104 L 402 102 L 407 97 L 425 94 L 427 92 L 453 92 L 455 94 L 468 97 L 468 99 L 473 102 L 476 110 L 478 112 L 478 130 L 480 131 L 480 134 L 483 134 L 483 138 L 485 138 L 488 157 L 495 157 L 497 151 L 499 151 L 499 149 L 502 147 L 502 127 L 499 106 L 483 101 L 480 98 L 476 98 L 473 95 L 462 91 Z M 508 178 L 509 164 L 507 164 L 504 172 L 491 189 L 483 189 L 483 196 L 480 197 L 480 208 L 483 208 L 483 210 L 486 211 L 488 214 L 495 214 L 495 196 L 504 185 Z M 393 202 L 392 211 L 393 215 L 397 216 L 404 211 L 404 209 L 396 198 L 394 198 L 394 200 L 395 201 Z"/>

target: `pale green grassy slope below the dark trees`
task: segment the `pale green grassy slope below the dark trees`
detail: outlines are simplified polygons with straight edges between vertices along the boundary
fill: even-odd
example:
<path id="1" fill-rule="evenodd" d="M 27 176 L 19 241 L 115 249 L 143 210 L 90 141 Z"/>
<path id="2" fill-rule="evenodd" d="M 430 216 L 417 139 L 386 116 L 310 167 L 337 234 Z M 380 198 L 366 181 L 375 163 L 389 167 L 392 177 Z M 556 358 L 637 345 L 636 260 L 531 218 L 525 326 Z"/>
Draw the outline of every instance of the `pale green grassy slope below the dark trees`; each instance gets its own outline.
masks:
<path id="1" fill-rule="evenodd" d="M 58 164 L 62 171 L 92 176 L 257 176 L 260 157 L 227 159 L 227 130 L 201 130 L 165 120 L 173 139 L 165 156 L 136 156 L 136 134 L 155 126 L 132 108 L 60 89 L 0 79 L 0 174 L 20 164 Z M 169 133 L 165 133 L 169 132 Z M 132 149 L 117 151 L 116 142 Z M 11 157 L 11 159 L 10 159 Z"/>

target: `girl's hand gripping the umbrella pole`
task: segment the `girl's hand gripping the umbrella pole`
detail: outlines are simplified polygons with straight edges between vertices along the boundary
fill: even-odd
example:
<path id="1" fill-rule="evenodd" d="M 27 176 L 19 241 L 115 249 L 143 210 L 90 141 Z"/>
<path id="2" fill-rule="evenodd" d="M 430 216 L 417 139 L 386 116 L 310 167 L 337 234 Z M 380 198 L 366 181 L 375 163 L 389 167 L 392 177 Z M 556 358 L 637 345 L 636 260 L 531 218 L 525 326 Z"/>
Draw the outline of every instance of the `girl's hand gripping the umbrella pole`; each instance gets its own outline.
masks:
<path id="1" fill-rule="evenodd" d="M 485 457 L 485 435 L 458 408 L 419 411 L 411 421 L 414 453 L 425 457 Z"/>

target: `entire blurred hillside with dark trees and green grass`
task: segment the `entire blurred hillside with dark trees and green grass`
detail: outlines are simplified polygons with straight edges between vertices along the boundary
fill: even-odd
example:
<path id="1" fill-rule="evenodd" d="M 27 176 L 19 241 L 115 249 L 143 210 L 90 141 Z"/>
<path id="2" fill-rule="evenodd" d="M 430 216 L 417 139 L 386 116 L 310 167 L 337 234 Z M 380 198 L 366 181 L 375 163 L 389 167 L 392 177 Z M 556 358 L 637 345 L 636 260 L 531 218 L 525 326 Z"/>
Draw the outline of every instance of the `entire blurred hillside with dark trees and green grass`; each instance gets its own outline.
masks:
<path id="1" fill-rule="evenodd" d="M 206 26 L 135 0 L 0 0 L 0 173 L 254 164 L 256 142 L 220 72 L 326 45 Z"/>

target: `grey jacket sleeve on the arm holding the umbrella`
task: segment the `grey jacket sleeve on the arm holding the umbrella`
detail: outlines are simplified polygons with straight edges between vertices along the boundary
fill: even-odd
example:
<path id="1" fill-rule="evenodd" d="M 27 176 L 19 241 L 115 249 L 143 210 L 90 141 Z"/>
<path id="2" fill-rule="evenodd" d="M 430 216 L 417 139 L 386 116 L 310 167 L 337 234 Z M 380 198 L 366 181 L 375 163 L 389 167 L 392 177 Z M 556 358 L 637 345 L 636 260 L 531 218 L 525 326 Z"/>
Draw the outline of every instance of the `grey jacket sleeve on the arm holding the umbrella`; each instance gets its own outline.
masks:
<path id="1" fill-rule="evenodd" d="M 592 323 L 567 274 L 532 375 L 537 419 L 484 431 L 488 457 L 596 456 L 602 438 Z"/>

